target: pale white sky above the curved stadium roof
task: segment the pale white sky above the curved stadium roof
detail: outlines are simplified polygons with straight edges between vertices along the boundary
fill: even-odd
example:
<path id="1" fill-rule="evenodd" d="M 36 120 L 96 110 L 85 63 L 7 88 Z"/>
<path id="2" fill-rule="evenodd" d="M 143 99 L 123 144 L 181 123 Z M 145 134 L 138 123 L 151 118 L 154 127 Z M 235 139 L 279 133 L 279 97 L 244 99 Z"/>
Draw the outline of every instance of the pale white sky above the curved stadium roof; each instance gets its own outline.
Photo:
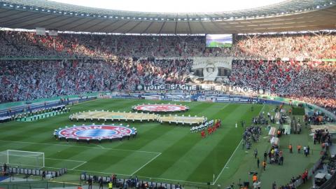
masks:
<path id="1" fill-rule="evenodd" d="M 52 0 L 93 8 L 151 13 L 211 13 L 257 8 L 284 0 Z"/>

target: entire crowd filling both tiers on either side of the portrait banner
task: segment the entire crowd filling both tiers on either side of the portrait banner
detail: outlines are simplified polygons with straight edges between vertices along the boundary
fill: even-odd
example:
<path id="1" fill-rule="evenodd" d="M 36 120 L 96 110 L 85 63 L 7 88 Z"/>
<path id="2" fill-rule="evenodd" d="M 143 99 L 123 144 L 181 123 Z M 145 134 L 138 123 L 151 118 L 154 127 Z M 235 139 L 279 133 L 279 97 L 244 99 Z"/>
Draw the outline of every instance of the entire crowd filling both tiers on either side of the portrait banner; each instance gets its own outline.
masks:
<path id="1" fill-rule="evenodd" d="M 134 90 L 139 83 L 184 83 L 193 57 L 230 56 L 235 59 L 230 75 L 232 85 L 264 88 L 336 113 L 335 62 L 265 61 L 276 57 L 335 58 L 335 33 L 234 38 L 232 48 L 207 48 L 205 36 L 40 36 L 27 31 L 0 31 L 0 57 L 77 57 L 71 61 L 0 62 L 4 84 L 0 85 L 0 101 Z"/>

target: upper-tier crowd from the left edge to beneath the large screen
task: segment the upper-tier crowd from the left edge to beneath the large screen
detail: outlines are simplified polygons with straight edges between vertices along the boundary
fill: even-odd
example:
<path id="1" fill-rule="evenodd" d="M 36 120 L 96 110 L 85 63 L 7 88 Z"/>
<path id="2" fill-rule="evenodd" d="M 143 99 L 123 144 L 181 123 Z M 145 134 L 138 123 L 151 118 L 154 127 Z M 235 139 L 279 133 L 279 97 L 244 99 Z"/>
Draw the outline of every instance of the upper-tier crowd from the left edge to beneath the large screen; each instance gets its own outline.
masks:
<path id="1" fill-rule="evenodd" d="M 206 48 L 205 36 L 137 36 L 0 31 L 0 56 L 195 57 L 231 56 L 230 48 Z"/>

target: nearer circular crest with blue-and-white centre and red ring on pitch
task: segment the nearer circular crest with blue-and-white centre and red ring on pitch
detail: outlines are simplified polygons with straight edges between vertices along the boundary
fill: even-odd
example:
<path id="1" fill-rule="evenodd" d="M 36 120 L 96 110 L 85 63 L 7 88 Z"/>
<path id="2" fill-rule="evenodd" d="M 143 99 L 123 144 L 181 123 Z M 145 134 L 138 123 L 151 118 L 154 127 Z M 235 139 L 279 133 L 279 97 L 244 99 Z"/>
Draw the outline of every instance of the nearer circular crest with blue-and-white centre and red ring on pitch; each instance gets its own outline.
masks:
<path id="1" fill-rule="evenodd" d="M 59 130 L 57 135 L 68 139 L 116 139 L 130 136 L 135 131 L 129 127 L 115 125 L 83 125 Z"/>

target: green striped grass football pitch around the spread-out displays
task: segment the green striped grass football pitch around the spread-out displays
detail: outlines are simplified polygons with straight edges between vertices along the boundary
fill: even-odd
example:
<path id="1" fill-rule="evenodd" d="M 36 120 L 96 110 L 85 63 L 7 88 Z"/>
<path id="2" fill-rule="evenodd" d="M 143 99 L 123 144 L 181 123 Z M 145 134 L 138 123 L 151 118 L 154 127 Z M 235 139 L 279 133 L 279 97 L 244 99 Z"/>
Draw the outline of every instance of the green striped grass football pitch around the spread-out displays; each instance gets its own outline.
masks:
<path id="1" fill-rule="evenodd" d="M 131 107 L 142 103 L 168 103 L 132 99 L 97 99 L 71 106 L 71 113 L 78 111 L 131 111 Z M 172 103 L 172 102 L 171 102 Z M 210 102 L 178 102 L 187 105 L 188 116 L 220 118 L 222 126 L 205 139 L 200 132 L 190 133 L 190 126 L 169 125 L 155 122 L 127 124 L 137 128 L 137 137 L 123 141 L 99 143 L 58 141 L 52 136 L 59 127 L 90 124 L 71 122 L 69 115 L 45 118 L 33 122 L 12 121 L 0 125 L 0 151 L 36 151 L 45 153 L 45 169 L 66 167 L 68 175 L 79 178 L 81 172 L 102 176 L 140 179 L 161 182 L 179 182 L 195 185 L 221 183 L 234 174 L 239 167 L 239 156 L 244 128 L 240 121 L 251 123 L 253 116 L 262 109 L 262 104 L 222 104 Z M 251 111 L 253 106 L 253 111 Z M 97 122 L 95 122 L 97 124 Z M 109 123 L 109 122 L 107 122 Z M 115 122 L 123 123 L 123 122 Z M 238 127 L 235 124 L 238 123 Z M 123 123 L 125 124 L 125 123 Z M 241 148 L 239 148 L 241 149 Z M 240 157 L 241 158 L 241 157 Z M 232 163 L 230 165 L 230 162 Z M 228 169 L 230 165 L 230 169 Z"/>

